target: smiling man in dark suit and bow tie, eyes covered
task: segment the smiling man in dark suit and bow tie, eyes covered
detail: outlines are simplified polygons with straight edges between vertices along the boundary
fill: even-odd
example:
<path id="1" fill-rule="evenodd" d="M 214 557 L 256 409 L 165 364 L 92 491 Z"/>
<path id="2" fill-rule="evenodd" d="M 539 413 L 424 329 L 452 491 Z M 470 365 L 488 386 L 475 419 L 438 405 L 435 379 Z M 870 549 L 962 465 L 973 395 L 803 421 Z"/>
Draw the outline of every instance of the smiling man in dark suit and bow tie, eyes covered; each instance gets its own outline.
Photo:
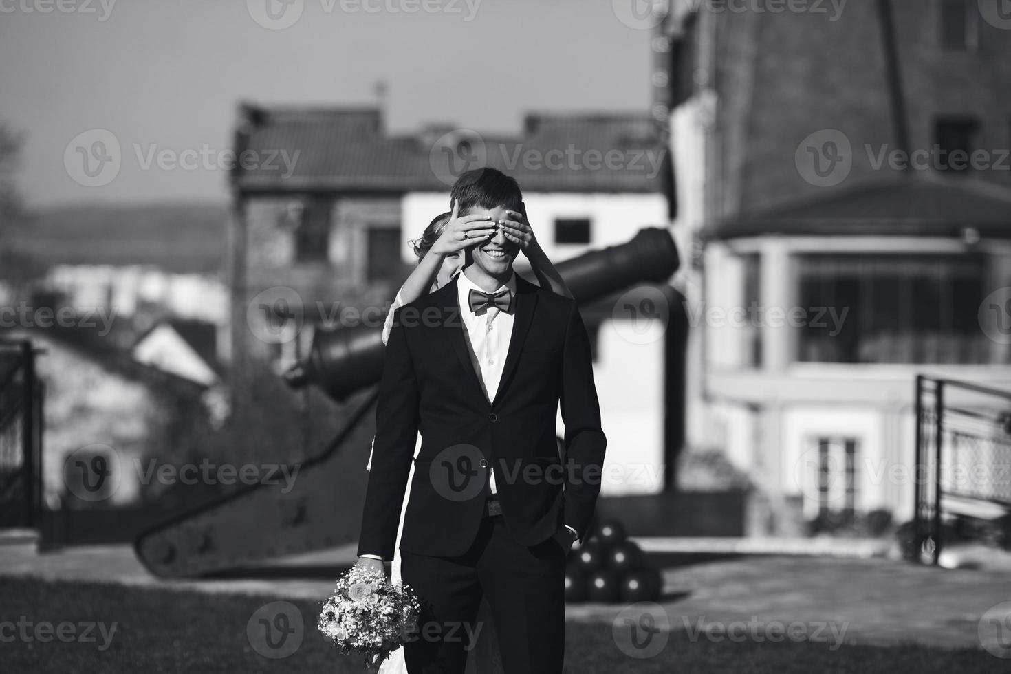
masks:
<path id="1" fill-rule="evenodd" d="M 516 181 L 469 171 L 452 198 L 460 215 L 507 220 L 504 230 L 474 246 L 453 282 L 396 313 L 359 564 L 382 570 L 393 558 L 421 431 L 400 538 L 403 582 L 423 603 L 407 670 L 462 674 L 483 596 L 507 674 L 559 674 L 565 557 L 589 525 L 607 444 L 589 340 L 575 302 L 513 271 Z"/>

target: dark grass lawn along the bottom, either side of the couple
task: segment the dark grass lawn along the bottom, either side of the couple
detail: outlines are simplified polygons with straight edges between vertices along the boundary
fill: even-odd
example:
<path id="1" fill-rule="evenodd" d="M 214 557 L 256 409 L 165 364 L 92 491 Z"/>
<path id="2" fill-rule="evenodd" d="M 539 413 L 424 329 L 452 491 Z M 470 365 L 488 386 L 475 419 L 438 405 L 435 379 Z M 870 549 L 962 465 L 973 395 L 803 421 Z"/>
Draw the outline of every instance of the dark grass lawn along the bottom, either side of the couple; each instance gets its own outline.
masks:
<path id="1" fill-rule="evenodd" d="M 310 601 L 293 602 L 304 618 L 303 639 L 297 650 L 279 659 L 260 655 L 247 636 L 247 624 L 258 609 L 273 601 L 273 598 L 134 589 L 119 585 L 0 579 L 0 672 L 343 674 L 361 671 L 360 660 L 338 655 L 324 641 L 315 629 L 318 607 Z M 68 624 L 61 625 L 61 622 Z M 102 623 L 104 635 L 98 628 L 81 624 L 88 622 Z M 113 623 L 115 632 L 108 639 Z M 275 622 L 289 630 L 293 629 L 291 624 Z M 63 630 L 63 639 L 51 638 L 41 643 L 37 637 L 50 638 L 48 630 L 53 634 Z M 297 641 L 297 633 L 292 633 L 291 638 Z M 262 645 L 260 649 L 265 650 Z M 655 658 L 637 660 L 624 655 L 615 645 L 611 624 L 581 622 L 569 623 L 566 650 L 567 669 L 573 674 L 972 674 L 1007 672 L 1011 664 L 982 650 L 843 646 L 831 651 L 827 645 L 810 643 L 713 643 L 705 640 L 691 643 L 682 631 L 672 633 L 666 648 Z"/>

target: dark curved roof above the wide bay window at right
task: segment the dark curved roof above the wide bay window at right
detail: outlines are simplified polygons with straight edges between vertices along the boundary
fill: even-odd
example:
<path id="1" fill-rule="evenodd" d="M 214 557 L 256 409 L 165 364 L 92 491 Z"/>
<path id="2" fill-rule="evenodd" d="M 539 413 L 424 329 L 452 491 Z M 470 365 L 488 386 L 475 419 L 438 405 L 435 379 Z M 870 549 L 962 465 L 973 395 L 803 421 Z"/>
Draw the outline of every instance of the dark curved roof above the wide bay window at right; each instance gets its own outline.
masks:
<path id="1" fill-rule="evenodd" d="M 930 174 L 866 182 L 719 223 L 713 238 L 760 234 L 1011 237 L 1011 189 L 972 177 Z"/>

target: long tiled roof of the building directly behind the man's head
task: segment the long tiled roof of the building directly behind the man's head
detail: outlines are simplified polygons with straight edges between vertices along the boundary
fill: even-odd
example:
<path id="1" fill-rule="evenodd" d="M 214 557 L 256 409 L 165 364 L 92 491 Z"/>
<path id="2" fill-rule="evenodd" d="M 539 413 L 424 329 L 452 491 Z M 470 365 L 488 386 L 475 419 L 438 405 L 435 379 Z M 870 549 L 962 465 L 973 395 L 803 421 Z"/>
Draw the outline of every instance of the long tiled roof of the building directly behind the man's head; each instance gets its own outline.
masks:
<path id="1" fill-rule="evenodd" d="M 532 192 L 661 192 L 670 180 L 662 170 L 666 149 L 645 114 L 531 114 L 520 138 L 447 125 L 395 136 L 377 108 L 244 106 L 240 128 L 248 133 L 241 149 L 262 160 L 233 175 L 247 193 L 445 191 L 455 175 L 480 166 Z"/>

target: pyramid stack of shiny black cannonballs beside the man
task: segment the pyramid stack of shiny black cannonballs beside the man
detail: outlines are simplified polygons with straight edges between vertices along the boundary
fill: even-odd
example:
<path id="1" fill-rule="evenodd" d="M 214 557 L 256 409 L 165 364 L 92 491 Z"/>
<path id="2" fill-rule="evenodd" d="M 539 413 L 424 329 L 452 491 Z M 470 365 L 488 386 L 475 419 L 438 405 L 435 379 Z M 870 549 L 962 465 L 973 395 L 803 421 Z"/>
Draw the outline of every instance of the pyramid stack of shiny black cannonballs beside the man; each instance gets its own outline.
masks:
<path id="1" fill-rule="evenodd" d="M 655 601 L 662 589 L 660 570 L 628 540 L 621 522 L 604 522 L 569 555 L 566 601 Z"/>

